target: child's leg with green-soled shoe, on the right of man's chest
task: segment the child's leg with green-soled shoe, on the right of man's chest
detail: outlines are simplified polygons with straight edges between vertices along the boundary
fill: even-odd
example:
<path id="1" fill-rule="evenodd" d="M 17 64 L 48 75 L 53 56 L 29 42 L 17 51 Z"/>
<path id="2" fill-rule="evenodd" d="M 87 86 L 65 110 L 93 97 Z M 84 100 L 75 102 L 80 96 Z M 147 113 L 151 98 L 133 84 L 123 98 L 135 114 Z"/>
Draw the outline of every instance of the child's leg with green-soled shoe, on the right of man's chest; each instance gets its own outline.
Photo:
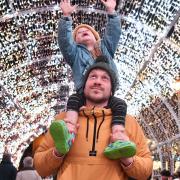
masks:
<path id="1" fill-rule="evenodd" d="M 122 99 L 112 97 L 109 102 L 112 109 L 112 134 L 124 133 L 125 116 L 127 105 Z M 104 151 L 105 156 L 110 159 L 118 159 L 121 157 L 132 157 L 136 153 L 136 145 L 127 140 L 117 140 L 111 143 Z"/>

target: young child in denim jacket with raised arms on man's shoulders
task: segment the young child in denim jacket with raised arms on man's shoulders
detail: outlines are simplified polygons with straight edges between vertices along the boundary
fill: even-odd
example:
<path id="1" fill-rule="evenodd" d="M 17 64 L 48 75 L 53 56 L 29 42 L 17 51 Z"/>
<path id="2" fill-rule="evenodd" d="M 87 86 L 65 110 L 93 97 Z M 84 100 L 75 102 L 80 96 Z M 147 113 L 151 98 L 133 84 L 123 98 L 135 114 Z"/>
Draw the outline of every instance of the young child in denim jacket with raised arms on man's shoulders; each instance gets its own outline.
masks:
<path id="1" fill-rule="evenodd" d="M 98 32 L 87 24 L 77 26 L 72 34 L 71 13 L 76 6 L 71 6 L 68 0 L 64 0 L 60 4 L 64 16 L 60 19 L 58 27 L 59 47 L 67 63 L 72 68 L 75 88 L 78 92 L 70 96 L 68 100 L 67 114 L 64 121 L 55 121 L 50 126 L 50 133 L 55 146 L 61 154 L 66 154 L 69 151 L 75 138 L 73 127 L 77 124 L 79 109 L 85 105 L 82 82 L 88 67 L 95 63 L 97 57 L 104 55 L 111 68 L 117 73 L 116 65 L 112 59 L 120 38 L 120 18 L 115 13 L 115 0 L 101 0 L 101 2 L 105 5 L 108 13 L 108 22 L 102 40 L 100 40 Z M 113 96 L 115 90 L 113 90 L 112 98 L 108 104 L 113 114 L 112 134 L 124 130 L 127 112 L 125 101 Z M 61 138 L 59 139 L 59 137 Z M 104 154 L 110 159 L 118 159 L 120 157 L 131 157 L 135 152 L 134 143 L 117 141 L 111 143 L 105 149 Z"/>

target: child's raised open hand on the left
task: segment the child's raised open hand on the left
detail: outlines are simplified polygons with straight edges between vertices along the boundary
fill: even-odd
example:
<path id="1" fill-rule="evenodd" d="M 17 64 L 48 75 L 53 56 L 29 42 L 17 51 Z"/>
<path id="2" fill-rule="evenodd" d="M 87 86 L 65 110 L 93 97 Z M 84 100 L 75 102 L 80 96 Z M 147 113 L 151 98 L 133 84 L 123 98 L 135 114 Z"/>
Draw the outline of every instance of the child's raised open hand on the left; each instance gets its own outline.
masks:
<path id="1" fill-rule="evenodd" d="M 76 10 L 77 5 L 72 6 L 70 0 L 62 0 L 60 3 L 60 8 L 64 16 L 71 16 L 74 10 Z"/>

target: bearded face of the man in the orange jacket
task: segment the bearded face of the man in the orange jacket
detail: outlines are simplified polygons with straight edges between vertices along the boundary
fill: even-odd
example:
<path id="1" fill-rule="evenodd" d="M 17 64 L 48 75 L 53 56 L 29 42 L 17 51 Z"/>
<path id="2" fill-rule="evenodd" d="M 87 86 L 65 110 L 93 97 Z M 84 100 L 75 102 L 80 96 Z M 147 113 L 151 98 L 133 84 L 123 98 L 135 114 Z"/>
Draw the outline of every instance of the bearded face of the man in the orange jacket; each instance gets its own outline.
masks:
<path id="1" fill-rule="evenodd" d="M 84 95 L 86 105 L 104 107 L 111 95 L 111 78 L 102 69 L 93 69 L 87 78 Z"/>

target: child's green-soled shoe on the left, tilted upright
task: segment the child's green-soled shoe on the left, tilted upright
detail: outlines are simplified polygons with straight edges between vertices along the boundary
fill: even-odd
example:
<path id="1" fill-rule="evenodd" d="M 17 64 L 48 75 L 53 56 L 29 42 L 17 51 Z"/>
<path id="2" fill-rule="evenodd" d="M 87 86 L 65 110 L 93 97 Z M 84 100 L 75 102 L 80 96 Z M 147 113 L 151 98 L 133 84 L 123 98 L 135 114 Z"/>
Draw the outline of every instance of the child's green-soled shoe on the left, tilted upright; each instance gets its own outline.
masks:
<path id="1" fill-rule="evenodd" d="M 63 120 L 54 121 L 50 126 L 50 134 L 59 153 L 65 155 L 72 145 L 72 135 L 68 132 Z"/>

